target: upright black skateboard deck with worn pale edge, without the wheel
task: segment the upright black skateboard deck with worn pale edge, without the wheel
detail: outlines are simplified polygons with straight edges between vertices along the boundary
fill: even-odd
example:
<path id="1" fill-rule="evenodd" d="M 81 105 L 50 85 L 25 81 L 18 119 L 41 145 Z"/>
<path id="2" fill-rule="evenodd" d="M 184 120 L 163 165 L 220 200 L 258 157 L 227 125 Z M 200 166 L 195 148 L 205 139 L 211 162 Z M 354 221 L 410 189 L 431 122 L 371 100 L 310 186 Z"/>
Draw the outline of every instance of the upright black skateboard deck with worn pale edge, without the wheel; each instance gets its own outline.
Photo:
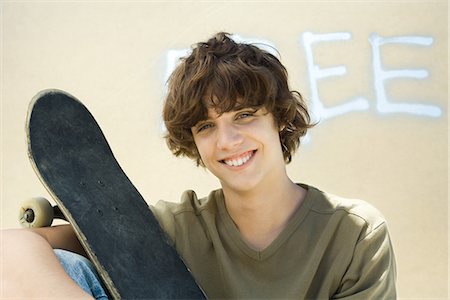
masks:
<path id="1" fill-rule="evenodd" d="M 97 122 L 60 90 L 31 101 L 28 155 L 114 299 L 205 295 L 133 186 Z"/>

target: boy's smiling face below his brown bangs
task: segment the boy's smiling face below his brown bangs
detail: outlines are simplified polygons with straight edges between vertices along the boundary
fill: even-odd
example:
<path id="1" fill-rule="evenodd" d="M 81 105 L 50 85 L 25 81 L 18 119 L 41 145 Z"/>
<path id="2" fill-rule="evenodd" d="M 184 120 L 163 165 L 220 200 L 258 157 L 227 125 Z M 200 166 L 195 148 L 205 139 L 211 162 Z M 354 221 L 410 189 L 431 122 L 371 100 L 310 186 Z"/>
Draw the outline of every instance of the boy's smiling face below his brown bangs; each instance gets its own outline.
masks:
<path id="1" fill-rule="evenodd" d="M 284 172 L 279 131 L 265 108 L 218 114 L 191 128 L 200 157 L 224 189 L 251 191 L 271 184 Z"/>

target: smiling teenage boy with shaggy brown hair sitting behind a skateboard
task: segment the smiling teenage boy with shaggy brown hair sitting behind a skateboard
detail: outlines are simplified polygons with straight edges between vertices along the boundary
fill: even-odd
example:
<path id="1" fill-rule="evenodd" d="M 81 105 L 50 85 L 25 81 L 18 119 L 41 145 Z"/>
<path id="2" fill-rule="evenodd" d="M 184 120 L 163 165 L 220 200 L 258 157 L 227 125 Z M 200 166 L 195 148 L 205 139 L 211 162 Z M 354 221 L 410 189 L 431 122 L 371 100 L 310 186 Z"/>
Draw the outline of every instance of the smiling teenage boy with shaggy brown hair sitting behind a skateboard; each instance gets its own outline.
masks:
<path id="1" fill-rule="evenodd" d="M 286 173 L 312 125 L 275 56 L 226 33 L 198 43 L 169 79 L 163 117 L 170 150 L 221 184 L 205 198 L 186 191 L 179 203 L 151 207 L 208 298 L 395 299 L 395 259 L 381 214 Z M 20 283 L 54 296 L 105 296 L 87 260 L 53 251 L 82 253 L 70 226 L 4 236 L 11 295 L 22 292 Z M 33 243 L 21 244 L 27 239 Z M 18 251 L 43 260 L 27 268 L 29 281 Z"/>

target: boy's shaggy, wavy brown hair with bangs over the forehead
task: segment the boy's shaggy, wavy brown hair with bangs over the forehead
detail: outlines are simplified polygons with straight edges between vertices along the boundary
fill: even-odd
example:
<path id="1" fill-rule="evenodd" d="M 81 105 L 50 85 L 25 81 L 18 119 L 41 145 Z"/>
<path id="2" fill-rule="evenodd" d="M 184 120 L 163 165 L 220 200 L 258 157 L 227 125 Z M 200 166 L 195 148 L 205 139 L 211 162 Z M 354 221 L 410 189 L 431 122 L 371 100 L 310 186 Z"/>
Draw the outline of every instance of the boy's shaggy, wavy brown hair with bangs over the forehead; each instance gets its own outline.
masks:
<path id="1" fill-rule="evenodd" d="M 208 118 L 208 107 L 219 114 L 266 108 L 280 128 L 286 163 L 313 126 L 301 94 L 289 89 L 281 62 L 255 45 L 235 42 L 225 32 L 194 45 L 192 53 L 181 59 L 169 78 L 163 108 L 169 149 L 202 166 L 191 128 Z"/>

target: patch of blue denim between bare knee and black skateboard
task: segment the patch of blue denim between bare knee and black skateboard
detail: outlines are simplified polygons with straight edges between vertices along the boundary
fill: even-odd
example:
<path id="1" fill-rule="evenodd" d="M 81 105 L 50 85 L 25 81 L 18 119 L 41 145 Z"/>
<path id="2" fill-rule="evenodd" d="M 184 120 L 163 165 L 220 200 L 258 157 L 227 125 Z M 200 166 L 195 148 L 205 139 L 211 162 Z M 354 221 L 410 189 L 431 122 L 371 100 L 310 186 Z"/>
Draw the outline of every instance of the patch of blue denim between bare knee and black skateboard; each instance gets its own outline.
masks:
<path id="1" fill-rule="evenodd" d="M 95 299 L 107 300 L 105 289 L 92 263 L 85 257 L 66 250 L 55 249 L 64 270 L 88 294 Z"/>

